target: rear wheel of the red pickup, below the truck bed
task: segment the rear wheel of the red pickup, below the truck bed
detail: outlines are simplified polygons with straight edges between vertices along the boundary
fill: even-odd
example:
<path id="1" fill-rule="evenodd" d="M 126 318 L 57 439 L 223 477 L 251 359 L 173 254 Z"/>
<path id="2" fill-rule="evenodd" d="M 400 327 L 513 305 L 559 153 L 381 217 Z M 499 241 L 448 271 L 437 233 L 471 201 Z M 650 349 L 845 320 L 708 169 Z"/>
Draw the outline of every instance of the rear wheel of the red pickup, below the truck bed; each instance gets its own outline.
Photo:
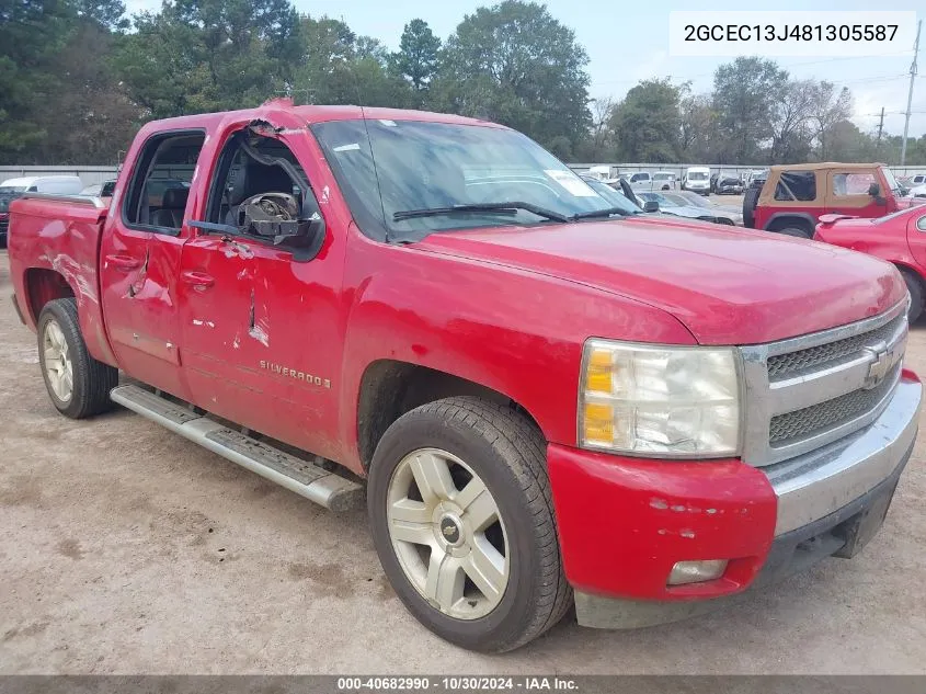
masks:
<path id="1" fill-rule="evenodd" d="M 118 385 L 119 372 L 90 356 L 75 299 L 48 302 L 38 315 L 37 332 L 42 377 L 57 410 L 71 419 L 84 419 L 112 409 L 110 390 Z M 56 379 L 52 372 L 62 375 Z M 70 378 L 64 374 L 70 374 Z M 66 386 L 68 380 L 69 391 L 60 385 Z"/>

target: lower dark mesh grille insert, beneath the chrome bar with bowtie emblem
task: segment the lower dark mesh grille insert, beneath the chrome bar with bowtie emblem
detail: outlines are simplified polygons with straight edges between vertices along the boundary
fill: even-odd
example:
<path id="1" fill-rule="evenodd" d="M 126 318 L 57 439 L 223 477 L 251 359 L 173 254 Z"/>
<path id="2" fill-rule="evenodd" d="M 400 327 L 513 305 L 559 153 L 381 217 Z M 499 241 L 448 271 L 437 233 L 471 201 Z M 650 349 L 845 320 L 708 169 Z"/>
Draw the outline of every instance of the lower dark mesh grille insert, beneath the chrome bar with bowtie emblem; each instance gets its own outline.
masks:
<path id="1" fill-rule="evenodd" d="M 812 436 L 835 424 L 851 421 L 860 414 L 870 412 L 894 389 L 899 375 L 900 366 L 895 366 L 880 386 L 870 390 L 854 390 L 832 400 L 773 417 L 769 423 L 768 442 L 776 446 Z"/>

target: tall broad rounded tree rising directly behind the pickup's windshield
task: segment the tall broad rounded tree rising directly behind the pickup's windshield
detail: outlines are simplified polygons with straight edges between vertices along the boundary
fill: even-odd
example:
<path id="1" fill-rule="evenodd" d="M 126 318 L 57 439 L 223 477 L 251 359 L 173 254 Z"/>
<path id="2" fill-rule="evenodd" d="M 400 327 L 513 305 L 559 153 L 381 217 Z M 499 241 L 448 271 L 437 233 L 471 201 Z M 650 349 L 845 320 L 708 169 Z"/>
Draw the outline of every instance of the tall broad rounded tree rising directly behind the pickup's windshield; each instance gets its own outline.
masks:
<path id="1" fill-rule="evenodd" d="M 487 117 L 550 145 L 590 125 L 588 57 L 572 30 L 534 2 L 504 0 L 468 14 L 447 39 L 430 104 Z"/>

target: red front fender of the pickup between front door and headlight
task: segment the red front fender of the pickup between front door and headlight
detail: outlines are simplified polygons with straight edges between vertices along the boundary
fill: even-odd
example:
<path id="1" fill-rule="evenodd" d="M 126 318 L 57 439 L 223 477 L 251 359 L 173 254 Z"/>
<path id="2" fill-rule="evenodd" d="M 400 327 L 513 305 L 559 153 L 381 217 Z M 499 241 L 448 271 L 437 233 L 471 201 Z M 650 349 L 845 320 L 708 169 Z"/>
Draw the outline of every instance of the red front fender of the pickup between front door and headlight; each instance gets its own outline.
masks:
<path id="1" fill-rule="evenodd" d="M 466 378 L 524 407 L 547 441 L 574 445 L 582 348 L 591 337 L 694 344 L 670 314 L 567 280 L 352 238 L 341 439 L 359 460 L 364 372 L 393 360 Z"/>

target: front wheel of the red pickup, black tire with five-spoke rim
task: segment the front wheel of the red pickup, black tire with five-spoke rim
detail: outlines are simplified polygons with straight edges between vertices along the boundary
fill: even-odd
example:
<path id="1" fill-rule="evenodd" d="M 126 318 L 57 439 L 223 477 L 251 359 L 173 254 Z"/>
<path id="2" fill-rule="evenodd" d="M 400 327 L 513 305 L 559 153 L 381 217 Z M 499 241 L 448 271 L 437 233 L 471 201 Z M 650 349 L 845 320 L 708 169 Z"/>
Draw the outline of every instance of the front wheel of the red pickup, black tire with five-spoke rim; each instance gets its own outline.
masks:
<path id="1" fill-rule="evenodd" d="M 393 422 L 377 445 L 370 465 L 367 507 L 382 568 L 409 612 L 451 644 L 482 652 L 512 650 L 557 624 L 572 604 L 572 589 L 567 583 L 559 551 L 545 451 L 541 433 L 525 417 L 508 407 L 476 397 L 447 398 L 423 405 Z M 448 460 L 447 455 L 453 460 Z M 435 507 L 425 499 L 433 502 L 438 497 L 422 490 L 438 487 L 422 487 L 419 477 L 425 465 L 428 469 L 437 469 L 445 463 L 449 463 L 454 489 L 444 497 L 450 501 L 442 501 Z M 462 466 L 455 463 L 462 463 Z M 469 479 L 467 471 L 471 474 Z M 457 481 L 459 475 L 462 478 Z M 411 487 L 407 487 L 407 480 L 413 482 Z M 477 497 L 484 502 L 480 505 L 490 508 L 488 504 L 494 502 L 496 510 L 498 523 L 487 526 L 481 542 L 477 538 L 479 533 L 470 532 L 476 517 L 470 510 L 475 503 L 460 512 L 457 533 L 453 531 L 453 519 L 448 521 L 447 516 L 437 515 L 455 513 L 454 500 L 466 496 L 459 490 L 467 489 L 473 480 L 484 483 L 482 494 L 489 493 L 488 499 L 481 494 Z M 419 493 L 412 493 L 414 490 Z M 415 496 L 418 500 L 413 500 Z M 431 519 L 413 523 L 418 528 L 415 538 L 424 533 L 430 549 L 416 539 L 402 543 L 401 535 L 398 535 L 398 543 L 393 542 L 390 523 L 396 521 L 390 514 L 397 513 L 396 509 L 401 504 L 412 504 L 414 512 L 420 514 L 415 517 Z M 398 524 L 401 523 L 400 520 Z M 453 551 L 462 557 L 455 560 L 457 564 L 476 561 L 478 554 L 483 556 L 480 547 L 493 530 L 493 545 L 504 548 L 503 553 L 496 550 L 493 556 L 495 559 L 501 557 L 505 567 L 504 588 L 495 591 L 495 602 L 492 603 L 489 593 L 472 581 L 471 567 L 470 570 L 457 568 L 449 559 L 446 566 L 456 571 L 450 574 L 456 578 L 435 584 L 462 585 L 459 591 L 450 591 L 462 596 L 451 595 L 444 600 L 444 606 L 438 599 L 433 603 L 425 599 L 432 571 L 435 577 L 444 577 L 444 559 Z M 462 542 L 464 546 L 445 547 L 445 535 Z M 410 550 L 410 546 L 419 554 Z M 435 562 L 439 562 L 439 569 L 435 568 Z M 438 588 L 432 592 L 441 596 Z M 450 616 L 449 612 L 459 614 Z"/>

